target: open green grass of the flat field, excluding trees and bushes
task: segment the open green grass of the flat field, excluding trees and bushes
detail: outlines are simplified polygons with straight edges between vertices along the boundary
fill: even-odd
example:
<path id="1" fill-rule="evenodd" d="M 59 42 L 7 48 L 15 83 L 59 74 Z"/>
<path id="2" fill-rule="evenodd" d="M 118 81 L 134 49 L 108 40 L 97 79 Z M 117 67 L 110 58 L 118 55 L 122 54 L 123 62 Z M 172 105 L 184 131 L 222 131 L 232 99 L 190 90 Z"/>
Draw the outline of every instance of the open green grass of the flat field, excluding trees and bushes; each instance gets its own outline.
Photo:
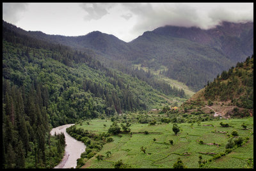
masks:
<path id="1" fill-rule="evenodd" d="M 220 122 L 228 123 L 232 127 L 222 128 Z M 250 130 L 243 130 L 241 124 L 245 123 Z M 106 126 L 104 126 L 106 124 Z M 94 119 L 90 124 L 84 122 L 77 124 L 77 128 L 83 128 L 94 133 L 107 132 L 111 121 L 106 119 Z M 213 124 L 213 126 L 204 126 Z M 113 164 L 122 160 L 123 163 L 131 168 L 172 168 L 173 163 L 180 158 L 188 168 L 198 168 L 198 157 L 202 155 L 203 160 L 210 160 L 212 156 L 199 154 L 198 152 L 225 152 L 225 145 L 228 137 L 226 133 L 216 133 L 216 131 L 228 131 L 231 134 L 236 130 L 239 137 L 249 140 L 241 147 L 235 148 L 230 154 L 227 154 L 217 160 L 207 162 L 203 168 L 244 168 L 246 160 L 253 158 L 253 117 L 246 119 L 230 119 L 220 121 L 202 122 L 200 126 L 196 123 L 191 126 L 189 123 L 178 124 L 180 132 L 175 135 L 172 131 L 172 124 L 132 124 L 130 126 L 132 137 L 129 134 L 122 134 L 122 137 L 113 136 L 114 141 L 104 145 L 98 154 L 106 156 L 107 151 L 111 151 L 109 158 L 98 161 L 95 156 L 90 158 L 82 168 L 114 168 Z M 143 131 L 148 131 L 145 135 Z M 156 138 L 156 141 L 153 139 Z M 169 140 L 173 140 L 173 145 Z M 199 144 L 203 140 L 205 144 Z M 211 143 L 220 144 L 207 145 Z M 146 147 L 145 153 L 140 147 Z M 186 155 L 188 154 L 188 155 Z"/>

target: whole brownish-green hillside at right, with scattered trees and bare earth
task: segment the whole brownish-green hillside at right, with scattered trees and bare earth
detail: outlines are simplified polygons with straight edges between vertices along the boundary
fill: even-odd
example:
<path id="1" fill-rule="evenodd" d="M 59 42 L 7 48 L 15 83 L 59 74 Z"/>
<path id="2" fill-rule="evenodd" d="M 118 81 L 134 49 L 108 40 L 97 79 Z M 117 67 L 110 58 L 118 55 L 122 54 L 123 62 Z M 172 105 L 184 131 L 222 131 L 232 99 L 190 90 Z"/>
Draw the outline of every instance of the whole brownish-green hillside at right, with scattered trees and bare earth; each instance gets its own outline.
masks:
<path id="1" fill-rule="evenodd" d="M 223 117 L 252 116 L 253 56 L 247 57 L 243 63 L 237 63 L 235 68 L 223 71 L 213 82 L 208 82 L 204 89 L 189 98 L 182 107 L 196 107 L 206 113 L 214 110 Z"/>

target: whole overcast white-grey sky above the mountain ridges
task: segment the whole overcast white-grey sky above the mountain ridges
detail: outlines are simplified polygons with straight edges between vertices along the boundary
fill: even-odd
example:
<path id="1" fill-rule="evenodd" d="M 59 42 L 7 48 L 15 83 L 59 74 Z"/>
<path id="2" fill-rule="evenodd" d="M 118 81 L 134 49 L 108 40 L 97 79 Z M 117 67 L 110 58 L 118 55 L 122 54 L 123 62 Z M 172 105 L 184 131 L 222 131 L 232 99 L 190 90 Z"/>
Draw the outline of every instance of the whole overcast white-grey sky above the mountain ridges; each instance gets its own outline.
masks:
<path id="1" fill-rule="evenodd" d="M 222 20 L 253 22 L 253 3 L 3 3 L 3 20 L 26 31 L 100 31 L 128 42 L 166 25 L 209 29 Z"/>

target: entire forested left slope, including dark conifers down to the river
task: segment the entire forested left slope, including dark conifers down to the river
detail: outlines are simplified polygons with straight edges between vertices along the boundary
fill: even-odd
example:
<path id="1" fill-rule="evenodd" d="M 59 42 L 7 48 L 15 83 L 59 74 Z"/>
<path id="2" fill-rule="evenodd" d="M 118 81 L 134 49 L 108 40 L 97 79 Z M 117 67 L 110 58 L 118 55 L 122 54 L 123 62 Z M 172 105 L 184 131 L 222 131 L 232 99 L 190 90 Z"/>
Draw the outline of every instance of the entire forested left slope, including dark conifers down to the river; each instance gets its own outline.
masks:
<path id="1" fill-rule="evenodd" d="M 125 70 L 125 69 L 124 69 Z M 107 68 L 93 52 L 37 40 L 3 26 L 3 168 L 52 168 L 64 135 L 51 128 L 79 119 L 148 110 L 184 91 L 129 68 Z M 64 141 L 63 141 L 64 140 Z"/>

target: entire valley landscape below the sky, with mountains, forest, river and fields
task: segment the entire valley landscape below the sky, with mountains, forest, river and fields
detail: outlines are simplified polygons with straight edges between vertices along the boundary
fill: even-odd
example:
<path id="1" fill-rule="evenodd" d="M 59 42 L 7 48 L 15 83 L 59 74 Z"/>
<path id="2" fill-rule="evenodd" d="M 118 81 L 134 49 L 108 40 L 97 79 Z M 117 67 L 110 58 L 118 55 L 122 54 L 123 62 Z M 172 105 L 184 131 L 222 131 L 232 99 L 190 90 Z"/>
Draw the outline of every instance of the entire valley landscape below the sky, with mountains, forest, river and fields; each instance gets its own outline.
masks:
<path id="1" fill-rule="evenodd" d="M 3 20 L 2 60 L 3 168 L 253 168 L 253 22 L 125 42 Z"/>

